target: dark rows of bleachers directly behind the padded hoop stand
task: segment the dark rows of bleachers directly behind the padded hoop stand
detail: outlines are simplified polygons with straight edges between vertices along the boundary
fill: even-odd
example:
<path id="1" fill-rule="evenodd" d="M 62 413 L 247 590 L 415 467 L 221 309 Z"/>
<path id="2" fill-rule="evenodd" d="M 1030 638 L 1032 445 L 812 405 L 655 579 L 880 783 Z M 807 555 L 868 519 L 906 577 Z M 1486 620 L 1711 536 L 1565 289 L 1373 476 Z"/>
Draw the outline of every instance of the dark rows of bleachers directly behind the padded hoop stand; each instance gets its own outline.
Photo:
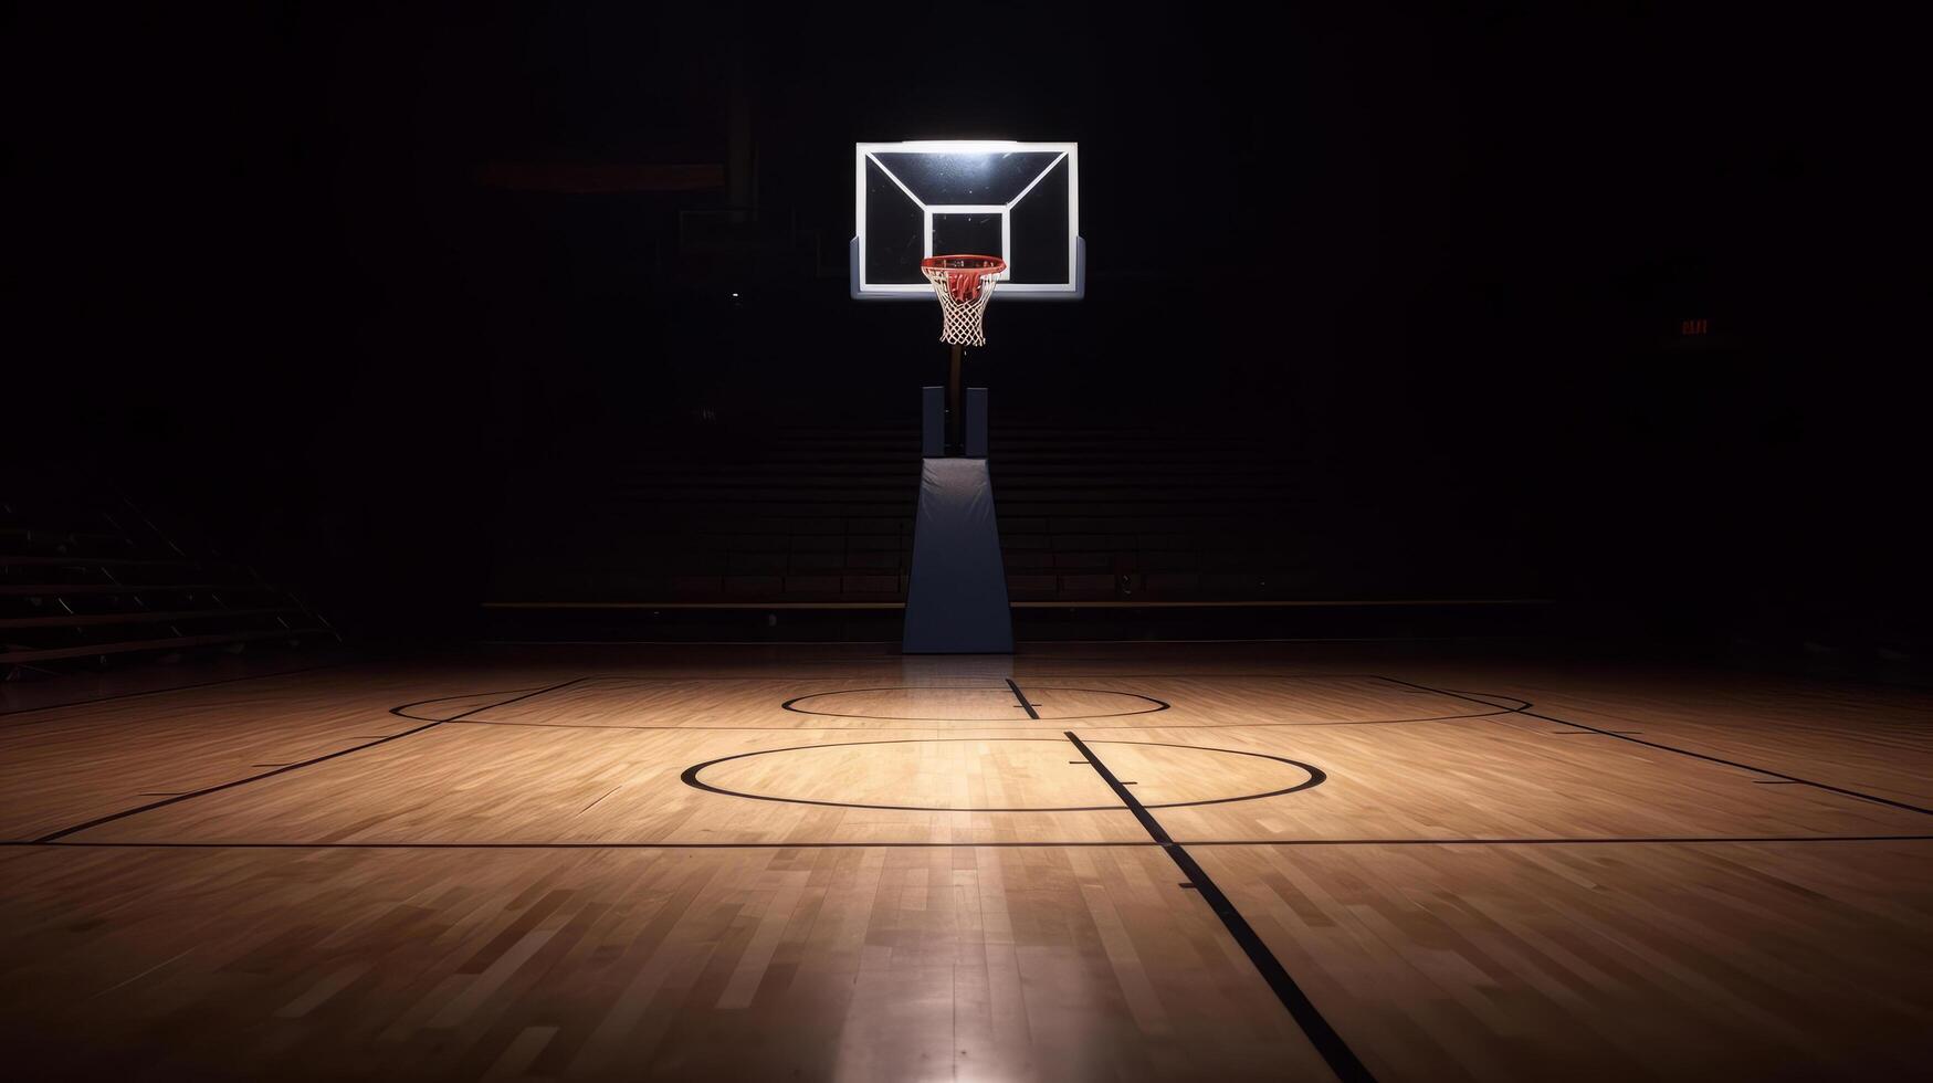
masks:
<path id="1" fill-rule="evenodd" d="M 1390 574 L 1394 547 L 1440 524 L 1436 509 L 1324 489 L 1320 470 L 1253 435 L 995 425 L 992 443 L 1015 601 L 1370 598 L 1399 582 Z M 590 483 L 528 476 L 508 501 L 491 598 L 905 600 L 916 429 L 794 427 L 719 447 L 694 453 L 661 437 Z M 1417 576 L 1415 590 L 1475 596 L 1519 586 L 1506 582 L 1508 567 L 1496 561 L 1473 567 L 1454 538 L 1430 542 L 1432 553 L 1465 553 L 1465 561 L 1448 578 Z"/>

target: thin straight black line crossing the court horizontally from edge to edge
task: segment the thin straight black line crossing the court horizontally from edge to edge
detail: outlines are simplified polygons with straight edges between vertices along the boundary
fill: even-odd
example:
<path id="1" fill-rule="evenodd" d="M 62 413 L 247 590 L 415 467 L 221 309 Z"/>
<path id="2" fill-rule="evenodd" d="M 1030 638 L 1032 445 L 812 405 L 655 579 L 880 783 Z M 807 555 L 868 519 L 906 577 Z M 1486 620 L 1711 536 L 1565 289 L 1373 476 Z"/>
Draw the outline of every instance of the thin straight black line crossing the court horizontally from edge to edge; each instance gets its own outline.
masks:
<path id="1" fill-rule="evenodd" d="M 1073 760 L 1081 762 L 1081 760 Z M 1749 845 L 1749 843 L 1929 843 L 1933 835 L 1660 835 L 1630 839 L 1198 839 L 1185 845 L 1206 847 L 1345 847 L 1345 845 Z M 6 839 L 0 849 L 1139 849 L 1158 847 L 1158 841 L 1067 839 L 1067 841 L 984 841 L 984 843 L 263 843 L 263 841 L 29 841 Z M 1183 845 L 1183 843 L 1173 843 Z"/>

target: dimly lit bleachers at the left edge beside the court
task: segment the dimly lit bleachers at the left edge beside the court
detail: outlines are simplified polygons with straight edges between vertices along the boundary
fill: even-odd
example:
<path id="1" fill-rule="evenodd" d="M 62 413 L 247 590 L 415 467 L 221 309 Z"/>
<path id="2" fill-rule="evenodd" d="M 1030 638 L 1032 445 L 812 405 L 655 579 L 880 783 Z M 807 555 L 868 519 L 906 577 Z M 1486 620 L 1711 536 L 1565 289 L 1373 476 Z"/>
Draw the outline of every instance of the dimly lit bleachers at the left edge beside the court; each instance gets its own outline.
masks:
<path id="1" fill-rule="evenodd" d="M 81 487 L 0 497 L 0 677 L 336 642 L 247 565 Z"/>

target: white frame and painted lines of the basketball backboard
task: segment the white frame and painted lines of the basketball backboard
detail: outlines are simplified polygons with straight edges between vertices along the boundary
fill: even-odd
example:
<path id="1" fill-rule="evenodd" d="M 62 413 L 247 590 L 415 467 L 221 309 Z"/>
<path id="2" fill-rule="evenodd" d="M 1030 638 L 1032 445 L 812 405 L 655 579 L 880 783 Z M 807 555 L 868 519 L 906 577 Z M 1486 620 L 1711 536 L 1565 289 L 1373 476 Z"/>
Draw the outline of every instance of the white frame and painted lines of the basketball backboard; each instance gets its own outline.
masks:
<path id="1" fill-rule="evenodd" d="M 1052 153 L 1053 161 L 1042 168 L 1034 180 L 1007 203 L 924 203 L 907 188 L 893 170 L 876 155 L 972 155 L 972 153 Z M 851 292 L 852 300 L 930 300 L 934 288 L 926 282 L 868 282 L 866 280 L 866 161 L 880 168 L 907 199 L 912 199 L 924 217 L 924 244 L 920 255 L 934 251 L 934 215 L 999 215 L 1001 251 L 978 255 L 1007 257 L 1011 248 L 1011 213 L 1061 161 L 1067 161 L 1067 282 L 1011 282 L 1011 273 L 1001 273 L 999 296 L 1005 300 L 1081 300 L 1086 294 L 1086 244 L 1081 240 L 1081 145 L 1079 143 L 1021 143 L 1011 139 L 914 139 L 905 143 L 854 143 L 852 145 L 852 242 L 851 242 Z"/>

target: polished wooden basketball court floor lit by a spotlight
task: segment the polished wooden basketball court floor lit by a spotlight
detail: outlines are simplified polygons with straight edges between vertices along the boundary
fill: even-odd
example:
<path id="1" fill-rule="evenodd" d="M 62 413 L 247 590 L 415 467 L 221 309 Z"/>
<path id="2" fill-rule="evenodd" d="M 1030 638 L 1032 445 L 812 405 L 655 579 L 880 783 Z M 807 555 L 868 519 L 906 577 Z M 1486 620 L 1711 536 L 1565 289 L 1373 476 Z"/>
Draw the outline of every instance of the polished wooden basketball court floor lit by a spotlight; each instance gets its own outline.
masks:
<path id="1" fill-rule="evenodd" d="M 17 1079 L 1819 1079 L 1933 1056 L 1933 696 L 532 648 L 0 714 Z"/>

